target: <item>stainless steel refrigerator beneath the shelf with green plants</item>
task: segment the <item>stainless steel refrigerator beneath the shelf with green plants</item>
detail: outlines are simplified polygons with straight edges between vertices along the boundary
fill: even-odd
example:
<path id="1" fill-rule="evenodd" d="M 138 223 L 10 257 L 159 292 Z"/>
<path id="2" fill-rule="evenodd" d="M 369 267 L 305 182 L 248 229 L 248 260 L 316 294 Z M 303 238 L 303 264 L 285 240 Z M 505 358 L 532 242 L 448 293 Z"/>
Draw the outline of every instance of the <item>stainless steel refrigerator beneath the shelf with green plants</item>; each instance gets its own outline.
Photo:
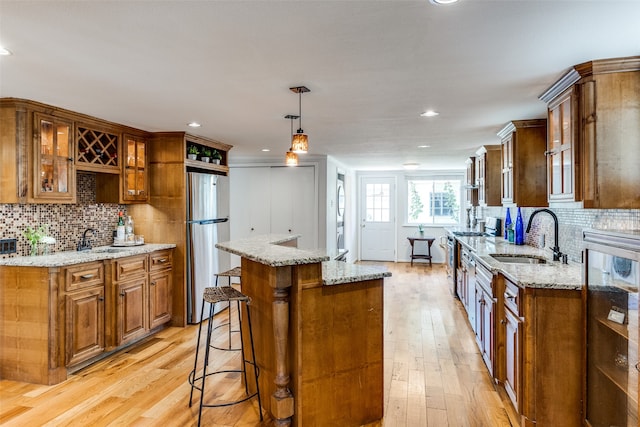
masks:
<path id="1" fill-rule="evenodd" d="M 229 178 L 189 172 L 187 188 L 187 321 L 198 323 L 204 288 L 230 268 L 229 254 L 215 247 L 229 240 Z M 215 312 L 225 307 L 218 304 Z"/>

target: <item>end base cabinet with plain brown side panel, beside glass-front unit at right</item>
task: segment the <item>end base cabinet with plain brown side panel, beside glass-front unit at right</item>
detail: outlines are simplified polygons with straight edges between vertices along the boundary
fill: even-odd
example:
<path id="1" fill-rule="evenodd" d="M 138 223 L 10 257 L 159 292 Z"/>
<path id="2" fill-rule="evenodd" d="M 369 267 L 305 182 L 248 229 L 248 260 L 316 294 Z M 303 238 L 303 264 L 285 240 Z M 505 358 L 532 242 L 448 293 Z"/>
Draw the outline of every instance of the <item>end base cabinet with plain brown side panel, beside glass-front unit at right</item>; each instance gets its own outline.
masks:
<path id="1" fill-rule="evenodd" d="M 498 276 L 502 330 L 497 380 L 521 426 L 581 426 L 582 300 L 580 291 L 519 288 Z"/>

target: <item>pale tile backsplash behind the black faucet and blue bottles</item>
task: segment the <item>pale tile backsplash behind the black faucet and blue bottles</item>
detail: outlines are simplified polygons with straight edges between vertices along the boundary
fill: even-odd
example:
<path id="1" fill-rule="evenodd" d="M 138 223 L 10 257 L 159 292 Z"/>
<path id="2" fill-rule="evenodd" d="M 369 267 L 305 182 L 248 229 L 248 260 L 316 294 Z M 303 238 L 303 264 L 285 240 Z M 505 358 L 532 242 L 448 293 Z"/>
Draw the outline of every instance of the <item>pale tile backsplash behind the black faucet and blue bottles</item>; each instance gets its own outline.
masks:
<path id="1" fill-rule="evenodd" d="M 537 208 L 522 208 L 525 229 L 529 217 Z M 560 250 L 569 255 L 569 259 L 580 262 L 582 253 L 582 230 L 595 228 L 601 230 L 640 230 L 640 209 L 570 209 L 551 208 L 558 217 L 558 240 Z M 478 216 L 495 216 L 504 224 L 506 208 L 478 208 Z M 516 220 L 516 209 L 511 209 L 511 219 Z M 546 213 L 536 215 L 531 224 L 531 232 L 526 233 L 525 243 L 540 247 L 544 235 L 545 247 L 554 246 L 553 218 Z"/>

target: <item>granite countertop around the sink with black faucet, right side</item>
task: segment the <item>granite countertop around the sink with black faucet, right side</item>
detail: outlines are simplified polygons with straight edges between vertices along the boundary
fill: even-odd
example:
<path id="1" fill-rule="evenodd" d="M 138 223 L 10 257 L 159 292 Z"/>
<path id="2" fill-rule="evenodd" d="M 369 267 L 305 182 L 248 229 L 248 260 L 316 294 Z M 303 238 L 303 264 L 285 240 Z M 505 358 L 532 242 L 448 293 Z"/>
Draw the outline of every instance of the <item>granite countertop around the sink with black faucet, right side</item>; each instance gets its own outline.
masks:
<path id="1" fill-rule="evenodd" d="M 521 288 L 580 290 L 582 284 L 582 264 L 569 262 L 562 264 L 552 261 L 550 251 L 528 245 L 514 245 L 502 237 L 455 236 L 462 245 L 469 248 L 478 262 L 493 273 L 500 273 Z M 545 264 L 504 263 L 491 254 L 530 255 L 542 257 Z"/>

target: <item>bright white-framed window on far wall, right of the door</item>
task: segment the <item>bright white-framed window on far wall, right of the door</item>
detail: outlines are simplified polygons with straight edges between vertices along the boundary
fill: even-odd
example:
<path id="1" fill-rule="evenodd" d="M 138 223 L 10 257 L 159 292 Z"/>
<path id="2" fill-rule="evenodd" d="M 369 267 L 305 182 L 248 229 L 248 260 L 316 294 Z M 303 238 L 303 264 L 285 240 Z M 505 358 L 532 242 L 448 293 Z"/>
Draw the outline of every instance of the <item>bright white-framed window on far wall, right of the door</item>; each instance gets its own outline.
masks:
<path id="1" fill-rule="evenodd" d="M 407 179 L 409 224 L 457 224 L 460 218 L 459 179 Z"/>

